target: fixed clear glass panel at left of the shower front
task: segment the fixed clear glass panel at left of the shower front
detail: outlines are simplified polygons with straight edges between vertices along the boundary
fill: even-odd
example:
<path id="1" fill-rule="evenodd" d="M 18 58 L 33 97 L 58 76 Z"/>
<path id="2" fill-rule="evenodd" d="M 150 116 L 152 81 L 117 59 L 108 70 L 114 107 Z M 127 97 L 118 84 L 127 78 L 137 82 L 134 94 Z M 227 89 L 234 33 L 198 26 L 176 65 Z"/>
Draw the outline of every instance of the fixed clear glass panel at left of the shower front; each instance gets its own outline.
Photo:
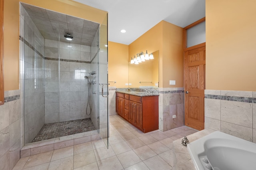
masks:
<path id="1" fill-rule="evenodd" d="M 47 135 L 37 135 L 45 124 L 59 122 L 59 26 L 58 23 L 54 25 L 56 61 L 48 60 L 46 39 L 23 6 L 21 11 L 20 22 L 24 26 L 20 35 L 24 51 L 24 142 L 28 144 L 59 137 L 59 125 Z"/>

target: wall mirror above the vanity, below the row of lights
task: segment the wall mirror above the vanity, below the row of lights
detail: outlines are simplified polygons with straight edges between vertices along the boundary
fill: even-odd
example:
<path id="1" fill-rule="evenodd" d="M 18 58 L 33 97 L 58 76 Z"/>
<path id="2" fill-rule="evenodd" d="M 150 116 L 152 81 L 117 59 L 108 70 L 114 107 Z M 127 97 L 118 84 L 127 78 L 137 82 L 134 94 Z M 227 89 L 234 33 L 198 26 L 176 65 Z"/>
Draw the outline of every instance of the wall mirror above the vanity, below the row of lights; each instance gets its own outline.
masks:
<path id="1" fill-rule="evenodd" d="M 143 52 L 146 53 L 146 51 Z M 150 55 L 150 51 L 148 52 Z M 131 63 L 129 59 L 129 88 L 158 88 L 159 50 L 152 52 L 152 55 L 154 59 L 145 60 L 139 64 Z"/>

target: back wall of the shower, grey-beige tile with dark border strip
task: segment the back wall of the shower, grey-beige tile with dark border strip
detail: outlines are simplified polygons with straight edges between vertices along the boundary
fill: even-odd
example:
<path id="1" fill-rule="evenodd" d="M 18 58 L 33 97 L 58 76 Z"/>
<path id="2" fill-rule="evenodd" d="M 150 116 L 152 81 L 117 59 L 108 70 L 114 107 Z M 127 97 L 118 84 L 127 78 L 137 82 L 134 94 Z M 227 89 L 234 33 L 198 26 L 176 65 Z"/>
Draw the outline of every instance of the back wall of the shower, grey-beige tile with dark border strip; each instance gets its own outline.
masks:
<path id="1" fill-rule="evenodd" d="M 60 59 L 90 62 L 90 46 L 59 42 L 59 51 Z M 45 40 L 45 57 L 58 59 L 58 41 Z M 58 61 L 45 60 L 45 123 L 90 117 L 86 114 L 90 94 L 84 78 L 89 76 L 90 63 L 81 62 L 60 61 L 58 66 Z"/>

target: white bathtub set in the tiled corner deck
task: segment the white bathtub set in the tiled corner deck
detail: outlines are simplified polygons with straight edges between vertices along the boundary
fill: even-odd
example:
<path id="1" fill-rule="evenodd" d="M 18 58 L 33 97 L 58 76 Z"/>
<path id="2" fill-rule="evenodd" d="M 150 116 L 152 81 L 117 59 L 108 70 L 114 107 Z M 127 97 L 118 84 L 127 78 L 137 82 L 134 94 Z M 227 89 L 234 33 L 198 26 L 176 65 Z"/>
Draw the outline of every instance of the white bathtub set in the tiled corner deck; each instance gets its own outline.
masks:
<path id="1" fill-rule="evenodd" d="M 223 132 L 212 132 L 187 148 L 196 170 L 256 170 L 256 144 Z"/>

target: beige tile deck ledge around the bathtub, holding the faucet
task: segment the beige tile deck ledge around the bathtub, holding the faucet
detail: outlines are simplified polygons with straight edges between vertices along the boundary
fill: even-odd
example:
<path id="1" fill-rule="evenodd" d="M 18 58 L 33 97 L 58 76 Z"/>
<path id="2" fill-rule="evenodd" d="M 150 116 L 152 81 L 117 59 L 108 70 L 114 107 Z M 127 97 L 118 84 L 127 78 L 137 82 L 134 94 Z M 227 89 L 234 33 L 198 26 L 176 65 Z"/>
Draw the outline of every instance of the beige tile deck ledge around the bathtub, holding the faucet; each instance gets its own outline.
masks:
<path id="1" fill-rule="evenodd" d="M 193 142 L 207 134 L 214 132 L 212 129 L 204 129 L 187 136 L 189 142 Z M 173 141 L 174 170 L 195 170 L 195 166 L 188 153 L 187 146 L 181 144 L 182 138 Z"/>

